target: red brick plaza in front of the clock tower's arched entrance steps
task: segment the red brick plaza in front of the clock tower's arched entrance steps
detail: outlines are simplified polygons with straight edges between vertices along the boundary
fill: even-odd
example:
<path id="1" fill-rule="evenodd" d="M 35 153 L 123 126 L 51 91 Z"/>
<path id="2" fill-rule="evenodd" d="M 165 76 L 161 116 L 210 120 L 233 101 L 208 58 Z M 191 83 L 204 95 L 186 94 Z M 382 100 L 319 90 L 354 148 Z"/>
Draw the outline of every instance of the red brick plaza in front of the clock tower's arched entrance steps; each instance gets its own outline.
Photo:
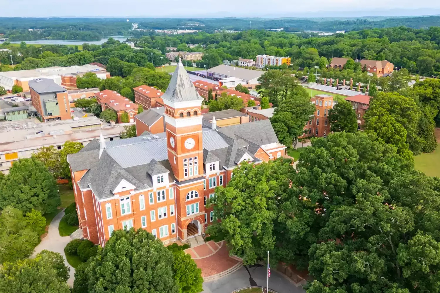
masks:
<path id="1" fill-rule="evenodd" d="M 227 271 L 240 263 L 240 260 L 230 257 L 226 242 L 209 241 L 203 245 L 185 250 L 202 270 L 202 277 L 209 277 Z"/>

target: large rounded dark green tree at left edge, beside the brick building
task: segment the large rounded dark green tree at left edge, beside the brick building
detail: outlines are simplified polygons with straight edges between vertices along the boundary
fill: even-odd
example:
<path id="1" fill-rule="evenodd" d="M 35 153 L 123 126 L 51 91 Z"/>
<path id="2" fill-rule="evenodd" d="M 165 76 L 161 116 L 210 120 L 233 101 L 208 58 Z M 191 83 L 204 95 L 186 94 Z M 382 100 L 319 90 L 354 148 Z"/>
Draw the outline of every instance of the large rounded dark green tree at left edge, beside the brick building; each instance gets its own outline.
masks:
<path id="1" fill-rule="evenodd" d="M 32 209 L 51 213 L 60 205 L 54 177 L 36 158 L 19 159 L 0 182 L 0 208 L 13 206 L 29 212 Z"/>

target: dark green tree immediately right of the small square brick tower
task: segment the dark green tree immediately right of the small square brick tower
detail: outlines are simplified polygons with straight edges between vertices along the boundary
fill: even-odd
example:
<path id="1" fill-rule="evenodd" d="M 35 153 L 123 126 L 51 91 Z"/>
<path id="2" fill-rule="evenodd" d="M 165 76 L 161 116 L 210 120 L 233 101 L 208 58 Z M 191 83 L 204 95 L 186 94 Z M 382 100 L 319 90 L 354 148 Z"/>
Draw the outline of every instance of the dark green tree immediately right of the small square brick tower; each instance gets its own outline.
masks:
<path id="1" fill-rule="evenodd" d="M 346 100 L 339 101 L 333 109 L 328 110 L 330 131 L 356 132 L 358 128 L 356 112 Z"/>

